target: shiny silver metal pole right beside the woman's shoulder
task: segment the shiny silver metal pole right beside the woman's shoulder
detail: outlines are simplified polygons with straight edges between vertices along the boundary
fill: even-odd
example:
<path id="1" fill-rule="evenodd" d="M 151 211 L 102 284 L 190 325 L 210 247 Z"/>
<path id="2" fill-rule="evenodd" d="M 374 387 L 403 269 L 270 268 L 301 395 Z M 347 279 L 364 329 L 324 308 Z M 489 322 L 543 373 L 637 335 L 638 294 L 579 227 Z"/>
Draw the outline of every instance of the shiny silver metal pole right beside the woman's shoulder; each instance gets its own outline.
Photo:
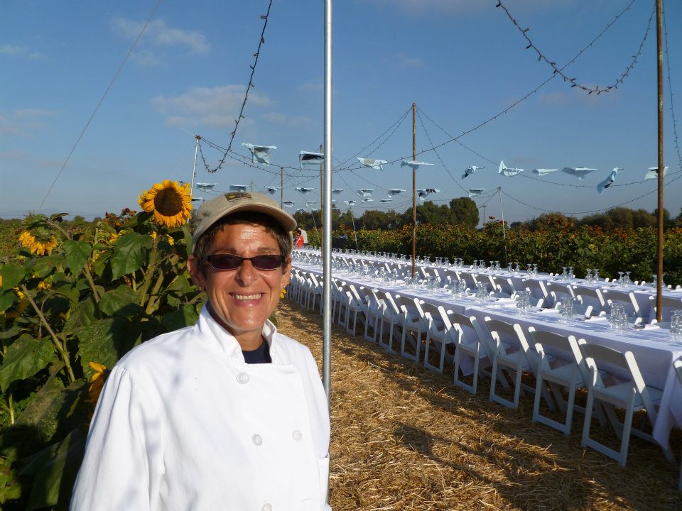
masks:
<path id="1" fill-rule="evenodd" d="M 331 409 L 332 376 L 332 0 L 325 0 L 325 155 L 323 195 L 322 380 Z"/>

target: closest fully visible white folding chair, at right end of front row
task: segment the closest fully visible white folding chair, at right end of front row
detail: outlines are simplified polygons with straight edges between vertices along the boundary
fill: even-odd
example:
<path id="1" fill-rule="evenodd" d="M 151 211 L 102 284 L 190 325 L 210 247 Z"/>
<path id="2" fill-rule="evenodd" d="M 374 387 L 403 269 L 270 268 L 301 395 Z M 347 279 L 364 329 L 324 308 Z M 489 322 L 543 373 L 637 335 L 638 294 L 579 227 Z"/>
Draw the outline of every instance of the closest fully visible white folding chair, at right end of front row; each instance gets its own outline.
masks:
<path id="1" fill-rule="evenodd" d="M 588 402 L 585 405 L 585 424 L 583 425 L 583 447 L 592 447 L 596 451 L 614 459 L 620 466 L 625 466 L 627 461 L 627 449 L 630 434 L 657 444 L 651 434 L 642 429 L 632 427 L 634 412 L 646 410 L 646 418 L 654 427 L 656 424 L 656 405 L 661 402 L 663 391 L 644 383 L 642 373 L 639 371 L 637 361 L 632 351 L 618 351 L 599 344 L 588 344 L 583 339 L 579 341 L 580 351 L 585 356 L 585 363 L 590 368 L 590 380 L 588 381 Z M 599 374 L 598 363 L 608 363 L 626 373 L 617 382 L 605 382 Z M 592 409 L 595 401 L 602 403 L 606 410 L 606 416 L 620 441 L 620 449 L 611 449 L 590 436 L 590 424 L 592 423 Z M 620 422 L 615 412 L 615 407 L 625 410 L 624 421 Z M 661 447 L 661 449 L 663 449 Z M 669 449 L 663 449 L 666 458 L 674 459 Z"/>

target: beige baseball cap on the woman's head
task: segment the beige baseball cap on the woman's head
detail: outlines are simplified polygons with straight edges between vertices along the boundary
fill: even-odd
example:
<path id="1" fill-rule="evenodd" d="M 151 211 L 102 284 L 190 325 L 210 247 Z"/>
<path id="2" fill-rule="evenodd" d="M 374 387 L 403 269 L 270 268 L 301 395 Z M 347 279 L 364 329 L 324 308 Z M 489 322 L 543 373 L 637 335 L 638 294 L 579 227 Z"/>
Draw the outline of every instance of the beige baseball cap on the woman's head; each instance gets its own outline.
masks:
<path id="1" fill-rule="evenodd" d="M 237 211 L 257 211 L 272 216 L 287 232 L 296 229 L 293 216 L 283 211 L 270 197 L 256 192 L 229 192 L 204 202 L 198 209 L 194 218 L 193 246 L 210 226 L 223 216 Z"/>

